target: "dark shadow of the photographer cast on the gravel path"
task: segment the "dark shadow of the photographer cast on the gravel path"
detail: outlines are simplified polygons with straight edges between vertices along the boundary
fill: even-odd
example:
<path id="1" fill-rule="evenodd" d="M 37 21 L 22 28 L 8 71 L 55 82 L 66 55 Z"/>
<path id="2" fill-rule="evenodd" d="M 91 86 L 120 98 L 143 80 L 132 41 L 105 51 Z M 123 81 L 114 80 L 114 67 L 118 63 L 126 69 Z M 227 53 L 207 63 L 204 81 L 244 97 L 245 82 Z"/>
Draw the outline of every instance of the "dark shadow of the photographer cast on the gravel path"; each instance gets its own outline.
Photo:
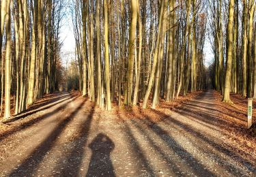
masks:
<path id="1" fill-rule="evenodd" d="M 91 148 L 92 155 L 86 176 L 115 176 L 110 157 L 115 144 L 111 139 L 103 133 L 99 133 L 89 144 L 89 148 Z"/>

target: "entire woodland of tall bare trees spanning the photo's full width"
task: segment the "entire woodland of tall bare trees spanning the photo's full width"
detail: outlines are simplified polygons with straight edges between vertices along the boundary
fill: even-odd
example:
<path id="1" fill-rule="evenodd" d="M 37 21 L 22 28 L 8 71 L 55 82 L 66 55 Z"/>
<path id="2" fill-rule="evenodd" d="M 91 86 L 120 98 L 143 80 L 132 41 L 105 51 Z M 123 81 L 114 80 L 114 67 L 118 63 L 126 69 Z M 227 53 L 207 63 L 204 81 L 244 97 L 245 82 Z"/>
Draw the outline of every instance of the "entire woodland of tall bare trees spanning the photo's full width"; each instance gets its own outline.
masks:
<path id="1" fill-rule="evenodd" d="M 59 39 L 65 13 L 76 40 L 69 67 Z M 255 0 L 1 0 L 0 41 L 5 118 L 12 97 L 18 114 L 60 87 L 106 110 L 156 108 L 207 88 L 209 74 L 227 103 L 230 92 L 256 97 Z"/>

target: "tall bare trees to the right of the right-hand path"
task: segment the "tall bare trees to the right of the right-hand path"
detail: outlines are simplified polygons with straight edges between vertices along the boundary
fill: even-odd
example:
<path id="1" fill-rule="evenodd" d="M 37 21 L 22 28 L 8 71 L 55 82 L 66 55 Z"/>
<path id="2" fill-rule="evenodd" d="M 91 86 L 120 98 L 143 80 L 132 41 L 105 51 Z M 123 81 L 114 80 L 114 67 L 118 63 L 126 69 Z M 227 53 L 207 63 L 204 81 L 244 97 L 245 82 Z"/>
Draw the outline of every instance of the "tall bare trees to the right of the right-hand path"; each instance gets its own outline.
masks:
<path id="1" fill-rule="evenodd" d="M 214 88 L 256 98 L 255 0 L 209 1 Z"/>

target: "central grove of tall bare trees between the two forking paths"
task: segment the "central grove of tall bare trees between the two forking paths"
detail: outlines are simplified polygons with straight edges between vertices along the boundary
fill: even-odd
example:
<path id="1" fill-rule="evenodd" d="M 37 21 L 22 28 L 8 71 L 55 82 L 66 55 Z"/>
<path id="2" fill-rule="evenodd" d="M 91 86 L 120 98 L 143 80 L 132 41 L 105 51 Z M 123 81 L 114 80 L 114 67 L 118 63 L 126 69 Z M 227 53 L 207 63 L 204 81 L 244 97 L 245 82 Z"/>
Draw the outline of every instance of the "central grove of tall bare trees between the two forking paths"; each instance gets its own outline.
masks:
<path id="1" fill-rule="evenodd" d="M 156 108 L 160 99 L 206 86 L 204 1 L 73 1 L 83 95 Z M 94 97 L 97 97 L 96 99 Z"/>

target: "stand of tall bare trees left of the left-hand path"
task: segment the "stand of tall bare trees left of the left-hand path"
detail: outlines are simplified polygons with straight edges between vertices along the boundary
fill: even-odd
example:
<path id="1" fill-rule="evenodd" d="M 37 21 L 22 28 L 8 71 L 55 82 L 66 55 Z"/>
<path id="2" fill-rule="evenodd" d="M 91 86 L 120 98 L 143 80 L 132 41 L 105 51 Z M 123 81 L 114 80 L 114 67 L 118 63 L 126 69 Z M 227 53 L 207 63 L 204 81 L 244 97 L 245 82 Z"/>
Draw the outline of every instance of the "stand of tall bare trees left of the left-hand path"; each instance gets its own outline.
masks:
<path id="1" fill-rule="evenodd" d="M 52 93 L 60 69 L 59 0 L 1 0 L 1 111 L 10 117 Z M 4 93 L 4 95 L 3 95 Z"/>

